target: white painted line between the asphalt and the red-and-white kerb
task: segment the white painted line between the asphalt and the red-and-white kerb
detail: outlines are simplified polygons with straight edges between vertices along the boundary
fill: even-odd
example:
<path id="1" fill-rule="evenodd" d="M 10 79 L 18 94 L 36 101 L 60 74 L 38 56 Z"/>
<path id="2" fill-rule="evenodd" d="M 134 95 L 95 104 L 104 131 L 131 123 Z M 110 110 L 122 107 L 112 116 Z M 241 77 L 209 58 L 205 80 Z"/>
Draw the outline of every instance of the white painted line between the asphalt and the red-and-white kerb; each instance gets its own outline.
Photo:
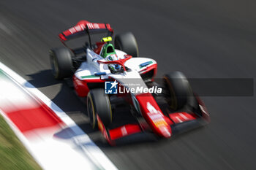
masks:
<path id="1" fill-rule="evenodd" d="M 50 109 L 52 109 L 53 112 L 55 112 L 56 115 L 58 115 L 61 118 L 61 120 L 66 125 L 69 126 L 69 128 L 77 135 L 73 137 L 74 142 L 78 144 L 78 146 L 80 146 L 80 148 L 83 150 L 83 152 L 86 153 L 86 155 L 91 159 L 91 161 L 94 161 L 95 165 L 99 166 L 99 169 L 110 169 L 110 170 L 117 169 L 116 166 L 114 166 L 113 163 L 108 159 L 108 157 L 102 152 L 102 150 L 100 150 L 99 147 L 97 147 L 97 145 L 91 141 L 89 136 L 85 134 L 65 112 L 63 112 L 56 104 L 54 104 L 53 101 L 51 101 L 47 96 L 45 96 L 42 92 L 40 92 L 37 88 L 35 88 L 34 85 L 31 85 L 29 82 L 23 79 L 23 77 L 20 77 L 20 75 L 13 72 L 10 68 L 5 66 L 1 62 L 0 62 L 0 69 L 2 69 L 6 74 L 12 77 L 12 80 L 18 83 L 24 90 L 36 96 L 48 107 L 50 107 Z M 10 122 L 10 120 L 8 120 L 7 117 L 5 117 L 5 119 L 8 122 Z M 17 133 L 20 133 L 20 132 L 15 131 L 15 134 Z M 21 136 L 21 134 L 18 136 Z M 26 142 L 26 139 L 20 138 L 20 140 L 25 145 L 28 144 L 28 142 Z"/>

